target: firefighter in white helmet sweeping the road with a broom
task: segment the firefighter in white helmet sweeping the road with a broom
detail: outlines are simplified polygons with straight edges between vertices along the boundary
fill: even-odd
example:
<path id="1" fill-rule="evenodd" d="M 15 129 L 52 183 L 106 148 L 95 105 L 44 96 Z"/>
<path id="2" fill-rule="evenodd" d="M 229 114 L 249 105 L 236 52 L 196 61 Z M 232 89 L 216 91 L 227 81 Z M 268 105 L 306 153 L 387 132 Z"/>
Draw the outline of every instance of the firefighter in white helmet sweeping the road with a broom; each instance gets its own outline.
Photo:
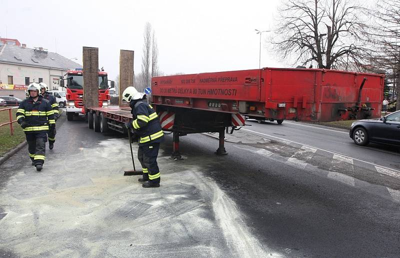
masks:
<path id="1" fill-rule="evenodd" d="M 138 140 L 137 158 L 140 161 L 143 176 L 138 179 L 143 187 L 159 187 L 160 175 L 157 165 L 159 144 L 164 133 L 159 124 L 158 115 L 144 99 L 146 94 L 134 87 L 127 87 L 122 99 L 129 103 L 133 121 L 126 122 L 125 127 L 133 130 L 133 137 Z"/>

